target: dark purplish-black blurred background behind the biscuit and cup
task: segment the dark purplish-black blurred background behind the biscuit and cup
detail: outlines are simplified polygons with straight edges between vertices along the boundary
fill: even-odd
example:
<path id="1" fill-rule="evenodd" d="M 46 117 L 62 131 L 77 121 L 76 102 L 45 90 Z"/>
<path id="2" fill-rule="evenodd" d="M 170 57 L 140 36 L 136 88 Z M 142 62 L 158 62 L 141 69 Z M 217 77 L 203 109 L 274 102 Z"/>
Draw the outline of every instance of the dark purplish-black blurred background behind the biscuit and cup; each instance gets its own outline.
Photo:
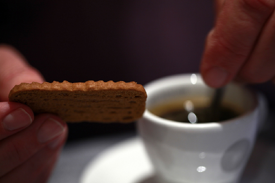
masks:
<path id="1" fill-rule="evenodd" d="M 16 47 L 48 82 L 146 84 L 199 71 L 213 9 L 211 0 L 1 1 L 0 43 Z M 135 124 L 69 124 L 69 131 L 72 140 Z"/>

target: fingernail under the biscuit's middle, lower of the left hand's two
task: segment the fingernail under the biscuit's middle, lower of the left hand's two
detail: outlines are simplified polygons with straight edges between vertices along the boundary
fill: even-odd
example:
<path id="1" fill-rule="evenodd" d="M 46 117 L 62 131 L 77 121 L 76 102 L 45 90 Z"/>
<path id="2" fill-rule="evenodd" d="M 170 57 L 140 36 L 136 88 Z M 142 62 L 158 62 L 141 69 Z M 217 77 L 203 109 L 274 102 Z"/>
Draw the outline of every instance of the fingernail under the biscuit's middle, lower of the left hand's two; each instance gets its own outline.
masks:
<path id="1" fill-rule="evenodd" d="M 39 128 L 37 139 L 44 143 L 61 135 L 63 131 L 64 127 L 57 120 L 49 118 Z"/>

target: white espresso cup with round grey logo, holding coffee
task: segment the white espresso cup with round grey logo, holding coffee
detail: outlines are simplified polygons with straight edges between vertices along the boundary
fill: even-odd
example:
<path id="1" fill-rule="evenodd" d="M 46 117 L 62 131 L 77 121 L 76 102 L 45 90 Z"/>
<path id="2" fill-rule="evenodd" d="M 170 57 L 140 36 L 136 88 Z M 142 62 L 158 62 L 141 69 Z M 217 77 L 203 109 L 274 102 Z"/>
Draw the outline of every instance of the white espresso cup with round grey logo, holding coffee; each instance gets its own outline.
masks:
<path id="1" fill-rule="evenodd" d="M 199 74 L 164 77 L 147 84 L 145 90 L 146 110 L 138 121 L 138 131 L 158 182 L 239 181 L 266 116 L 263 97 L 243 86 L 228 84 L 222 103 L 241 114 L 224 121 L 192 124 L 161 118 L 151 110 L 169 101 L 184 104 L 197 100 L 196 105 L 209 105 L 214 90 L 204 84 Z"/>

